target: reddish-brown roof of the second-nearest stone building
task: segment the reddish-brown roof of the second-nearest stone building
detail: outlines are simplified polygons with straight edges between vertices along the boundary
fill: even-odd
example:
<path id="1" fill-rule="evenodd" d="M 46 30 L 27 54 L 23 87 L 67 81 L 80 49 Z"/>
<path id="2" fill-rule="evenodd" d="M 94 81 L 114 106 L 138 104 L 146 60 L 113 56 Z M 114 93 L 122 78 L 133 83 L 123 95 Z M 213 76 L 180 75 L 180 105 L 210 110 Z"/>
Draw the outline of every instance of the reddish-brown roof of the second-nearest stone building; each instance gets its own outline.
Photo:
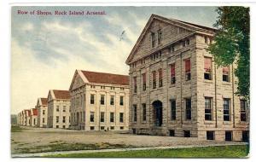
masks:
<path id="1" fill-rule="evenodd" d="M 90 83 L 129 85 L 128 75 L 82 71 Z"/>

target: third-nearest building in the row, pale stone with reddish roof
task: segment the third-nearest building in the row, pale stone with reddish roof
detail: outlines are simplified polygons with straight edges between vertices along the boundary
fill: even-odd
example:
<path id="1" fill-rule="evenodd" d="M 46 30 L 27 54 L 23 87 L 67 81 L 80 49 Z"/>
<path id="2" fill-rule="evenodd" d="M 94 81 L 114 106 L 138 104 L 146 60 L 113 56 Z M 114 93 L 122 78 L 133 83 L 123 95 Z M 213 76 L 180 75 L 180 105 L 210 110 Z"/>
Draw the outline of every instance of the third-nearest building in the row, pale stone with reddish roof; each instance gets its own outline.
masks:
<path id="1" fill-rule="evenodd" d="M 70 95 L 68 90 L 49 90 L 47 127 L 69 128 L 69 108 Z"/>

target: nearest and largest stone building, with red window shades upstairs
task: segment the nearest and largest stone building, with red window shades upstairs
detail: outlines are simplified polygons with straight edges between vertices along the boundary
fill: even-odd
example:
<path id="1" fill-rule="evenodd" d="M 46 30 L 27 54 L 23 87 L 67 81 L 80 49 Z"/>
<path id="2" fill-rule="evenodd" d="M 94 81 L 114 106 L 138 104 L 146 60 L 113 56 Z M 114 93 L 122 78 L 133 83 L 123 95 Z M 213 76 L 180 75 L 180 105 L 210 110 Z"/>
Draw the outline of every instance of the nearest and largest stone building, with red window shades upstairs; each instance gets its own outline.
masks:
<path id="1" fill-rule="evenodd" d="M 217 67 L 207 46 L 216 29 L 152 14 L 126 60 L 130 130 L 136 134 L 247 141 L 247 101 L 234 69 Z"/>

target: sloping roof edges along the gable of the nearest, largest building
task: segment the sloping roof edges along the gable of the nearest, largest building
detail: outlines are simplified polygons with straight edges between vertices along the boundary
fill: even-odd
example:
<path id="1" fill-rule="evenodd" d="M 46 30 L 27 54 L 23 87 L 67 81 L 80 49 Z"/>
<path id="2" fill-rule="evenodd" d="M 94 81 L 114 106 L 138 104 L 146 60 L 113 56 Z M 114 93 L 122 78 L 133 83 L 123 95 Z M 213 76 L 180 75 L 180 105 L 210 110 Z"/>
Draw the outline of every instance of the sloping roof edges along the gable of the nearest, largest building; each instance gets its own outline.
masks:
<path id="1" fill-rule="evenodd" d="M 137 39 L 137 42 L 135 43 L 134 47 L 131 49 L 131 53 L 125 61 L 126 64 L 129 64 L 129 61 L 131 61 L 132 55 L 136 52 L 137 48 L 139 47 L 139 43 L 142 41 L 144 35 L 148 32 L 148 28 L 154 20 L 160 20 L 174 26 L 180 26 L 192 32 L 209 32 L 214 34 L 217 31 L 217 29 L 212 27 L 200 26 L 183 20 L 168 19 L 157 14 L 151 14 L 146 26 L 143 28 L 143 32 Z"/>

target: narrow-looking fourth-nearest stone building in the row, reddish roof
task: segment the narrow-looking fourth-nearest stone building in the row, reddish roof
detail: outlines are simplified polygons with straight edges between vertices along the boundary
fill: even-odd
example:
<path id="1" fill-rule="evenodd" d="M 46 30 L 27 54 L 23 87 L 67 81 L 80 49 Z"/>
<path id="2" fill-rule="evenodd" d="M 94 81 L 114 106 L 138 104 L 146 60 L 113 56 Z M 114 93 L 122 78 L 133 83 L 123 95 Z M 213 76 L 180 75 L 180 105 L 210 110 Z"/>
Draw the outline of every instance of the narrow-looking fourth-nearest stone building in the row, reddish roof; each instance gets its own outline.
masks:
<path id="1" fill-rule="evenodd" d="M 46 128 L 48 119 L 48 99 L 38 98 L 36 108 L 38 109 L 38 127 Z"/>

